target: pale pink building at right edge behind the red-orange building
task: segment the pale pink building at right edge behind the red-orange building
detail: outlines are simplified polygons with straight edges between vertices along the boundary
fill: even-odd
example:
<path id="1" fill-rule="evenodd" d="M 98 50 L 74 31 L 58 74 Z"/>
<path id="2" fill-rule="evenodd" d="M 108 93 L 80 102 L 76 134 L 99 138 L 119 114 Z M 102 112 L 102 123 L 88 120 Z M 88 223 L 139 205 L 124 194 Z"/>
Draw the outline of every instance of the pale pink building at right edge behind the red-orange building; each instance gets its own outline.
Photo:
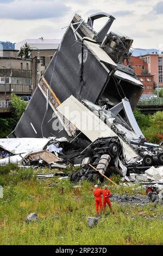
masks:
<path id="1" fill-rule="evenodd" d="M 163 87 L 162 80 L 162 66 L 163 66 L 163 54 L 152 53 L 142 55 L 140 57 L 148 64 L 148 71 L 154 76 L 154 82 L 157 86 Z"/>

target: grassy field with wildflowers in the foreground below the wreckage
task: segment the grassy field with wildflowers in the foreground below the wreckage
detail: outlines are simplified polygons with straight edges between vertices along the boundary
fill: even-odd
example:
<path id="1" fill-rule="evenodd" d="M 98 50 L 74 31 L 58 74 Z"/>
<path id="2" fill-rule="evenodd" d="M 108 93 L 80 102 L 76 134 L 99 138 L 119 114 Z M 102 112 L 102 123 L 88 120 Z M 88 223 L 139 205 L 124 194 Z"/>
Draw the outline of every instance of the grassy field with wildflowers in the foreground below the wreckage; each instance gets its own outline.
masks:
<path id="1" fill-rule="evenodd" d="M 87 217 L 96 216 L 93 184 L 85 181 L 73 188 L 68 180 L 58 178 L 37 181 L 32 171 L 17 169 L 12 176 L 0 168 L 4 198 L 0 199 L 1 245 L 162 245 L 163 221 L 146 220 L 146 216 L 162 216 L 160 204 L 126 206 L 112 202 L 115 215 L 107 209 L 95 228 L 87 227 Z M 0 183 L 1 184 L 1 183 Z M 51 186 L 49 186 L 51 184 Z M 110 185 L 112 193 L 144 194 L 133 187 Z M 26 217 L 36 212 L 37 223 L 26 223 Z M 59 217 L 59 220 L 55 218 Z"/>

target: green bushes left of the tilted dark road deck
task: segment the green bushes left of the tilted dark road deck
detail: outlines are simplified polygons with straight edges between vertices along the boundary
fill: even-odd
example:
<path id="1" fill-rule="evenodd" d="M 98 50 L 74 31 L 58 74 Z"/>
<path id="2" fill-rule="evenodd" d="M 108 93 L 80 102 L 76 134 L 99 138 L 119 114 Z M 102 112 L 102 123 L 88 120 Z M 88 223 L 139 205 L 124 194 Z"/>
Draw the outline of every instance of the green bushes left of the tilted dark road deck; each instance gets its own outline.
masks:
<path id="1" fill-rule="evenodd" d="M 20 120 L 21 115 L 27 107 L 27 102 L 21 100 L 21 97 L 15 94 L 11 95 L 12 114 L 10 118 L 0 118 L 0 137 L 6 137 L 11 131 L 15 129 L 18 120 Z"/>

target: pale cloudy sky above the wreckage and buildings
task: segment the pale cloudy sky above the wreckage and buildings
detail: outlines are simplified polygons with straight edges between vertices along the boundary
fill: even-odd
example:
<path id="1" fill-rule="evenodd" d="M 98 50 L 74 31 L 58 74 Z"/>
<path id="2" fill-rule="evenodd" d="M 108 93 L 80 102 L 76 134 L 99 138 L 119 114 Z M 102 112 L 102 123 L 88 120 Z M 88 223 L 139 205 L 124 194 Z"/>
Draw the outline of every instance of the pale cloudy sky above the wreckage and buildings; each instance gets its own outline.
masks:
<path id="1" fill-rule="evenodd" d="M 163 0 L 0 0 L 0 41 L 62 38 L 75 13 L 85 21 L 99 11 L 113 15 L 111 31 L 134 39 L 134 47 L 163 45 Z M 95 24 L 96 31 L 104 19 Z"/>

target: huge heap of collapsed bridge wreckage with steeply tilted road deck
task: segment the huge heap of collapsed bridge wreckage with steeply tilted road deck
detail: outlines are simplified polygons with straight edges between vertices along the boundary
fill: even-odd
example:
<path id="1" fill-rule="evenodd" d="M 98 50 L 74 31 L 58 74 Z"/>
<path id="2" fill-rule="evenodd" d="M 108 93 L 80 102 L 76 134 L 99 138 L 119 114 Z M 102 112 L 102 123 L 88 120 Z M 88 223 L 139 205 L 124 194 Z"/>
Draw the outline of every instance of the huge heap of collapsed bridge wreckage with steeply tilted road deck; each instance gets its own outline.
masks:
<path id="1" fill-rule="evenodd" d="M 102 17 L 108 21 L 96 32 L 93 23 Z M 114 20 L 106 13 L 91 15 L 87 22 L 74 15 L 9 135 L 8 140 L 21 143 L 20 151 L 5 147 L 7 141 L 0 139 L 2 150 L 13 154 L 11 161 L 52 168 L 72 163 L 81 170 L 68 175 L 71 181 L 99 182 L 101 174 L 118 173 L 129 180 L 133 172 L 144 174 L 153 165 L 163 165 L 162 146 L 148 143 L 135 120 L 133 109 L 143 84 L 133 69 L 123 65 L 129 61 L 133 39 L 110 32 Z M 37 147 L 36 139 L 45 141 Z M 0 164 L 7 161 L 8 157 Z"/>

